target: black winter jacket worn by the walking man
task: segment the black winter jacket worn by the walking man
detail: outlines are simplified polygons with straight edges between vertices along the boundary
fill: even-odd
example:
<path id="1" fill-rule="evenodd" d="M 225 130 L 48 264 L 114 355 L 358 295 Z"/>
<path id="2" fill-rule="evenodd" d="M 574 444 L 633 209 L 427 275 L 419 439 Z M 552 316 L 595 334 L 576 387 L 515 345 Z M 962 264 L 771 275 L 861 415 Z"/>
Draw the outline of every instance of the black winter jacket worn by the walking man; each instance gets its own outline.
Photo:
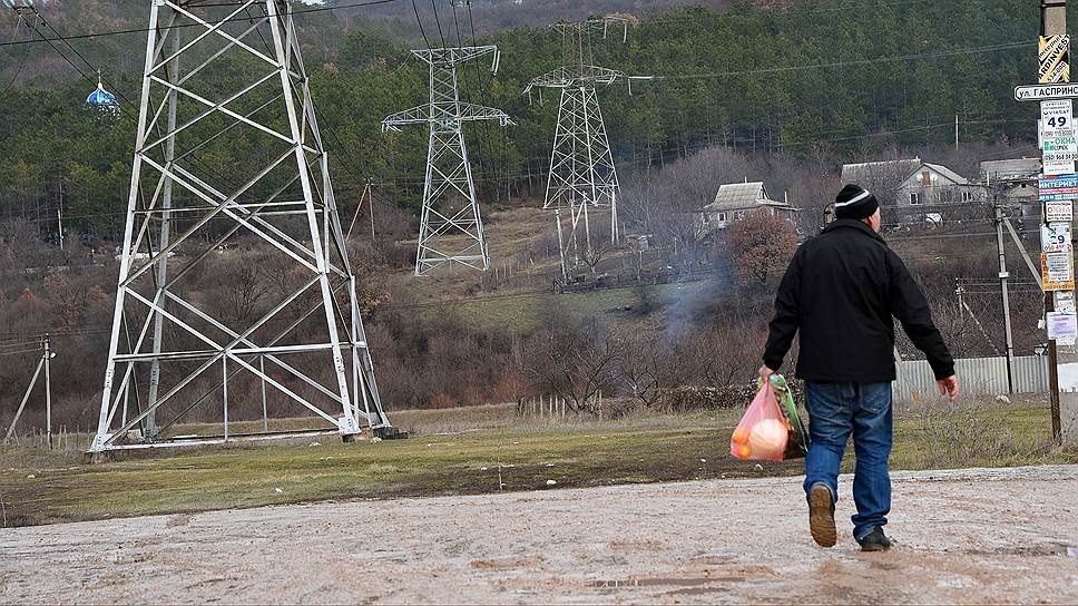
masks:
<path id="1" fill-rule="evenodd" d="M 899 255 L 864 223 L 835 221 L 790 262 L 775 296 L 764 363 L 777 371 L 800 330 L 800 379 L 893 381 L 892 316 L 928 356 L 937 379 L 954 374 L 928 302 Z"/>

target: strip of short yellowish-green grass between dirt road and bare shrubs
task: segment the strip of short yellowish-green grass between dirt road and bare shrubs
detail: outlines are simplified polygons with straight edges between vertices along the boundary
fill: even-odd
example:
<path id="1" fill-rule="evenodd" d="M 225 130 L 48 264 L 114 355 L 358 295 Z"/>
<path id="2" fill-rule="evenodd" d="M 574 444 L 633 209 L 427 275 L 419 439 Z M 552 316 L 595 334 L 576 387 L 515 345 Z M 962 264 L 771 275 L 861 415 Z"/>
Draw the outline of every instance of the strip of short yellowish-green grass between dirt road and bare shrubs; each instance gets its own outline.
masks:
<path id="1" fill-rule="evenodd" d="M 738 411 L 620 420 L 519 418 L 511 404 L 400 411 L 408 440 L 335 434 L 86 465 L 77 449 L 0 448 L 4 526 L 340 499 L 476 495 L 677 480 L 793 476 L 801 461 L 738 461 Z M 895 469 L 1078 462 L 1054 449 L 1037 402 L 903 410 Z M 286 428 L 291 421 L 280 421 Z M 852 470 L 852 453 L 846 468 Z M 553 481 L 555 483 L 548 485 Z"/>

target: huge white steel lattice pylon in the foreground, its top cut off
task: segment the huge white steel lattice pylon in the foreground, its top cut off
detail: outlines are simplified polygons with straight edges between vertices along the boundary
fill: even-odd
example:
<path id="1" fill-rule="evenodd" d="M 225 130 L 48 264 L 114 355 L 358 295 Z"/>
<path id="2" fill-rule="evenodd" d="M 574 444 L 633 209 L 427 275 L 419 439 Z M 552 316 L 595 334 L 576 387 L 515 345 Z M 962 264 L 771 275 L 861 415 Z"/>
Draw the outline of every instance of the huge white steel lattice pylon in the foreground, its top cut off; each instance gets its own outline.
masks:
<path id="1" fill-rule="evenodd" d="M 286 0 L 150 2 L 91 453 L 270 437 L 267 387 L 304 431 L 392 431 L 307 82 Z"/>

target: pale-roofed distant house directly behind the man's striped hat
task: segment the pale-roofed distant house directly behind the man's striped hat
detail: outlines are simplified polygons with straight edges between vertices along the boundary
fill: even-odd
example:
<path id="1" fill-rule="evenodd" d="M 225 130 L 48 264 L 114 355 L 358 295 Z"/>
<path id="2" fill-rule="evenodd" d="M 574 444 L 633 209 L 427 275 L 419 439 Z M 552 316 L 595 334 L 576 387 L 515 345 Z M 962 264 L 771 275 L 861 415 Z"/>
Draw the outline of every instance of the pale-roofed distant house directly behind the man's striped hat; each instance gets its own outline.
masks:
<path id="1" fill-rule="evenodd" d="M 865 187 L 876 194 L 881 205 L 900 211 L 988 199 L 988 189 L 983 185 L 919 157 L 845 164 L 842 180 Z"/>

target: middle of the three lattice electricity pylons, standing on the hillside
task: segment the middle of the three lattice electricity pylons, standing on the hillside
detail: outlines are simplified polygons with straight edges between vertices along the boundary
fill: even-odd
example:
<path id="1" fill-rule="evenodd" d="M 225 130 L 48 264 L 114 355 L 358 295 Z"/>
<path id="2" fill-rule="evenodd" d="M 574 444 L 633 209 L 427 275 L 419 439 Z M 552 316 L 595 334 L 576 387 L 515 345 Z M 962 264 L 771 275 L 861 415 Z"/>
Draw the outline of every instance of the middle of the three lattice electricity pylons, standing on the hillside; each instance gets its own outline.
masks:
<path id="1" fill-rule="evenodd" d="M 498 47 L 420 49 L 412 55 L 430 66 L 430 102 L 388 116 L 382 120 L 382 130 L 400 130 L 409 124 L 430 125 L 415 275 L 427 275 L 452 263 L 486 271 L 490 255 L 461 125 L 476 120 L 498 120 L 501 126 L 513 123 L 500 109 L 461 102 L 457 66 L 492 55 L 490 70 L 497 74 Z"/>

